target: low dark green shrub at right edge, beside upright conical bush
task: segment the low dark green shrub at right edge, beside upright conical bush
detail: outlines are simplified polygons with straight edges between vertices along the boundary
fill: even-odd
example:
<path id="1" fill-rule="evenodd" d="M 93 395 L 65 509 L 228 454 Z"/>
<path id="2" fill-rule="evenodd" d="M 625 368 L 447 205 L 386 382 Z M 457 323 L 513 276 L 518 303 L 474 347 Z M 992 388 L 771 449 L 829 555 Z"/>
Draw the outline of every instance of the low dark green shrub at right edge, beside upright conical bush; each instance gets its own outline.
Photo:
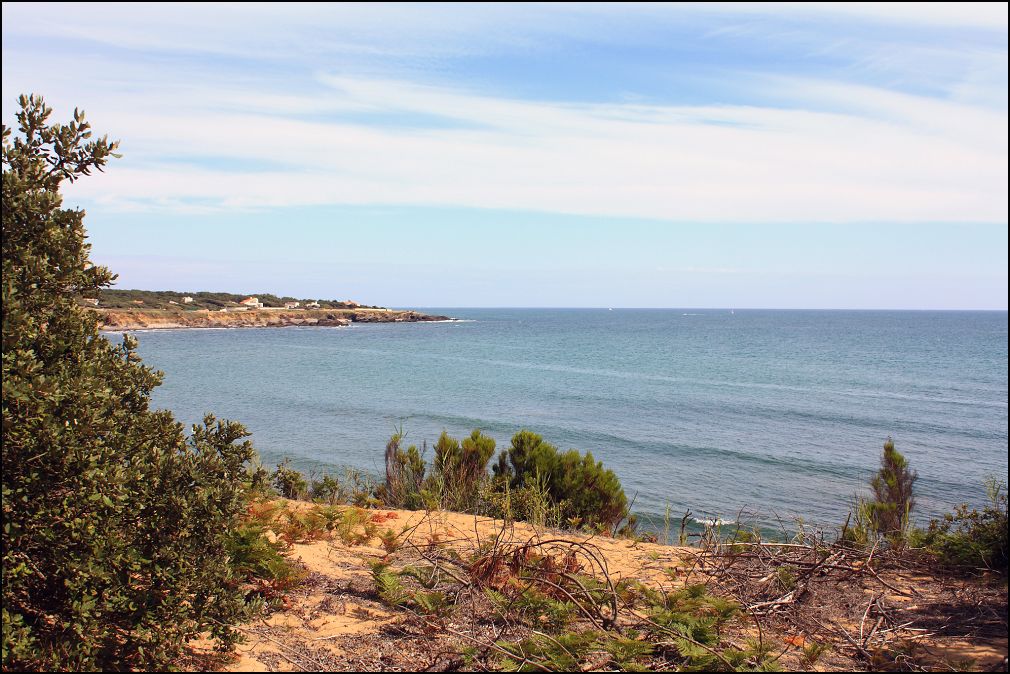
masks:
<path id="1" fill-rule="evenodd" d="M 986 483 L 989 503 L 982 510 L 957 506 L 925 531 L 918 531 L 912 545 L 924 548 L 944 566 L 992 569 L 1007 575 L 1006 483 L 995 477 Z"/>

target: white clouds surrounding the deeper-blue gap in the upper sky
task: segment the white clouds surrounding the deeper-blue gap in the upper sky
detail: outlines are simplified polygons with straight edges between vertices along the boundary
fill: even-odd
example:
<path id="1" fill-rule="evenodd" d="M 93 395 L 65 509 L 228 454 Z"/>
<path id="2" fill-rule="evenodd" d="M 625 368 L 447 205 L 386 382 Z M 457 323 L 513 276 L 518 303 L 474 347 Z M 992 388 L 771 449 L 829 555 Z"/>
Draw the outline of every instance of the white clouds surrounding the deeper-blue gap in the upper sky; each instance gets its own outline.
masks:
<path id="1" fill-rule="evenodd" d="M 627 11 L 658 20 L 784 13 L 1005 29 L 1005 5 L 729 3 L 523 12 L 358 5 L 242 11 L 144 5 L 127 12 L 71 5 L 34 12 L 4 5 L 3 11 L 5 119 L 25 83 L 57 92 L 49 102 L 66 106 L 58 116 L 84 104 L 99 130 L 122 138 L 126 159 L 70 194 L 106 208 L 199 212 L 367 203 L 689 221 L 1007 220 L 1006 107 L 985 93 L 1002 72 L 1005 101 L 1005 65 L 1001 70 L 998 63 L 1005 64 L 1005 49 L 973 57 L 984 66 L 981 80 L 957 80 L 956 93 L 946 98 L 737 72 L 734 86 L 760 91 L 752 99 L 761 103 L 718 106 L 535 102 L 388 76 L 337 75 L 320 65 L 341 51 L 435 58 L 527 41 L 549 49 L 544 36 L 552 32 L 602 39 L 608 22 L 625 19 Z M 333 25 L 340 30 L 330 30 Z M 143 58 L 123 62 L 89 50 L 73 64 L 56 52 L 26 58 L 8 49 L 8 35 L 87 39 Z M 243 62 L 241 77 L 234 77 L 226 60 L 192 59 L 192 52 L 297 63 L 298 72 L 317 72 L 295 86 L 283 73 L 261 73 Z M 153 56 L 162 53 L 190 58 Z M 447 123 L 381 123 L 390 114 Z"/>

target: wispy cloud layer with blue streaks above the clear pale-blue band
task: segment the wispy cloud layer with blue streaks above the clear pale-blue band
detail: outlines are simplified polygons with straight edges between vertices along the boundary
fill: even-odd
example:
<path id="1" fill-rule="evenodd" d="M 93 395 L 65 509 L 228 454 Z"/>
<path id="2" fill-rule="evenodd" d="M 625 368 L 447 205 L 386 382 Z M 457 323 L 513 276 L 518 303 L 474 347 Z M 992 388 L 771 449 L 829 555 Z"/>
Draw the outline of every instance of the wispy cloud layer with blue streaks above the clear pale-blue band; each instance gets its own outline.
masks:
<path id="1" fill-rule="evenodd" d="M 3 11 L 5 112 L 123 139 L 71 192 L 105 209 L 1007 219 L 1005 5 Z"/>

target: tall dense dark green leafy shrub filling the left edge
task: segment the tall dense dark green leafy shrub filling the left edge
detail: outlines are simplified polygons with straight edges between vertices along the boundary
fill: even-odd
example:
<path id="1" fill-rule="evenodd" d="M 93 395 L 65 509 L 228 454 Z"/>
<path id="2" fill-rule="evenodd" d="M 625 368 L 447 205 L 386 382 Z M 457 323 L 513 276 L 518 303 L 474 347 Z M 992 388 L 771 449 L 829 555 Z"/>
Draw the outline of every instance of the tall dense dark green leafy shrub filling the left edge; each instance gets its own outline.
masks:
<path id="1" fill-rule="evenodd" d="M 116 143 L 19 104 L 18 133 L 3 128 L 3 666 L 161 669 L 201 633 L 237 639 L 229 546 L 252 448 L 239 424 L 207 416 L 187 440 L 152 411 L 161 375 L 79 306 L 115 277 L 60 187 Z"/>

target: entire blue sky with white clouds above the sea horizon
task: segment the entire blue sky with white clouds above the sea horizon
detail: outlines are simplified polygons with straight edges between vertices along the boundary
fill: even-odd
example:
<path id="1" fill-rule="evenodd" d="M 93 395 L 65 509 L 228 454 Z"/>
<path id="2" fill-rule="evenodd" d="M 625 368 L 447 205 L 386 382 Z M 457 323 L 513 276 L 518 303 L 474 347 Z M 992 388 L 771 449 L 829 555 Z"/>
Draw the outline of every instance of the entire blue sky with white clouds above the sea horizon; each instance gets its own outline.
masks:
<path id="1" fill-rule="evenodd" d="M 3 4 L 117 287 L 1007 308 L 1007 4 Z"/>

